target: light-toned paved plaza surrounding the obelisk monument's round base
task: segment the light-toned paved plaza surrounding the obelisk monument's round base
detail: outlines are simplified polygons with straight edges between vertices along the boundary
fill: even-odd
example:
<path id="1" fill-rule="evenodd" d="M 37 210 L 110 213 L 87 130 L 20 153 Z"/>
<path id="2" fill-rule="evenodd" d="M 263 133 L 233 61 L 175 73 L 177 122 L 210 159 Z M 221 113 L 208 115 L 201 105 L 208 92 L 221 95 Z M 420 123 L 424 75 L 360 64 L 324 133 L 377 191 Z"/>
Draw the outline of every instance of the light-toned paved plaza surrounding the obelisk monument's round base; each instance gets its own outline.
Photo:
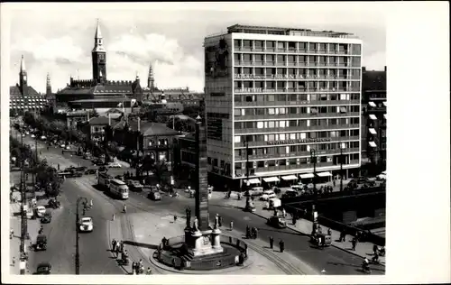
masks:
<path id="1" fill-rule="evenodd" d="M 115 225 L 113 228 L 117 228 L 119 226 L 126 226 L 125 223 L 128 220 L 130 222 L 130 239 L 124 238 L 124 243 L 127 244 L 127 249 L 131 253 L 131 258 L 133 261 L 138 261 L 136 253 L 132 253 L 130 251 L 131 247 L 134 247 L 137 251 L 140 252 L 139 255 L 145 256 L 143 258 L 144 268 L 150 266 L 153 269 L 156 268 L 158 272 L 162 274 L 251 274 L 251 275 L 261 275 L 261 274 L 287 274 L 287 271 L 295 271 L 295 269 L 285 269 L 285 271 L 281 270 L 281 267 L 289 267 L 290 264 L 299 264 L 299 259 L 292 256 L 290 253 L 275 253 L 272 250 L 265 249 L 267 246 L 266 243 L 260 240 L 244 240 L 249 246 L 249 265 L 245 265 L 244 267 L 233 267 L 227 268 L 219 271 L 178 271 L 174 270 L 170 267 L 164 266 L 159 262 L 156 262 L 152 259 L 152 255 L 157 249 L 158 245 L 161 244 L 161 239 L 163 237 L 170 238 L 175 236 L 180 236 L 184 234 L 184 227 L 186 225 L 186 219 L 183 217 L 179 217 L 177 221 L 174 223 L 173 213 L 170 214 L 165 212 L 160 213 L 137 213 L 137 214 L 129 214 L 125 218 L 121 217 L 124 221 L 123 223 L 117 222 L 117 217 L 115 221 Z M 119 225 L 122 224 L 122 225 Z M 113 225 L 113 223 L 111 224 Z M 117 233 L 117 229 L 115 229 L 115 233 Z M 242 238 L 242 233 L 234 231 L 228 231 L 223 229 L 223 234 Z M 113 238 L 113 235 L 111 238 Z M 119 234 L 116 234 L 117 236 Z M 116 238 L 117 240 L 117 238 Z M 150 262 L 152 261 L 152 262 Z M 150 265 L 152 263 L 152 265 Z M 281 264 L 283 263 L 283 264 Z M 279 265 L 277 265 L 279 264 Z M 275 266 L 276 265 L 276 266 Z M 307 264 L 303 264 L 303 268 L 306 268 L 304 271 L 292 272 L 292 274 L 318 274 L 317 271 L 309 268 Z M 298 268 L 299 266 L 296 266 Z"/>

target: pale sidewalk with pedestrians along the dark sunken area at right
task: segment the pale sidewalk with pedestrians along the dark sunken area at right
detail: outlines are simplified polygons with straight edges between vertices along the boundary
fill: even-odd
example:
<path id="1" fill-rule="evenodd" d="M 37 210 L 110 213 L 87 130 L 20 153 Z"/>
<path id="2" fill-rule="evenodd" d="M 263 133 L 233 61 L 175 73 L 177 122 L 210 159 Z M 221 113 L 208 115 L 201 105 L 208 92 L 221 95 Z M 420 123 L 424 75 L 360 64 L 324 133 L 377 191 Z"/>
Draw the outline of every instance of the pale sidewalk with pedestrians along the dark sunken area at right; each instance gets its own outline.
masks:
<path id="1" fill-rule="evenodd" d="M 222 203 L 226 204 L 231 207 L 244 207 L 246 203 L 246 199 L 242 198 L 241 200 L 237 199 L 236 193 L 232 193 L 231 198 L 225 199 L 223 193 L 215 193 L 214 192 L 213 199 L 211 200 L 212 203 L 218 202 L 219 199 L 222 199 Z M 216 198 L 216 201 L 215 199 Z M 255 212 L 253 214 L 257 216 L 262 216 L 263 218 L 269 218 L 273 215 L 274 211 L 263 209 L 264 202 L 259 201 L 255 199 L 253 201 L 255 205 Z M 281 213 L 280 213 L 281 215 Z M 289 214 L 287 214 L 290 216 Z M 287 217 L 288 217 L 287 216 Z M 301 234 L 307 234 L 310 235 L 313 227 L 313 223 L 306 220 L 306 219 L 299 219 L 296 225 L 292 225 L 290 218 L 287 218 L 288 227 L 292 230 L 295 230 Z M 323 232 L 327 232 L 327 227 L 324 225 L 321 225 L 323 228 Z M 336 230 L 332 230 L 332 246 L 335 246 L 338 249 L 344 250 L 345 252 L 352 253 L 354 255 L 360 256 L 362 258 L 367 257 L 368 259 L 373 258 L 373 244 L 371 243 L 358 243 L 355 246 L 355 251 L 352 250 L 352 244 L 351 235 L 346 235 L 346 241 L 345 242 L 338 242 L 338 239 L 340 237 L 340 233 Z M 380 256 L 379 260 L 382 265 L 385 265 L 385 256 Z"/>

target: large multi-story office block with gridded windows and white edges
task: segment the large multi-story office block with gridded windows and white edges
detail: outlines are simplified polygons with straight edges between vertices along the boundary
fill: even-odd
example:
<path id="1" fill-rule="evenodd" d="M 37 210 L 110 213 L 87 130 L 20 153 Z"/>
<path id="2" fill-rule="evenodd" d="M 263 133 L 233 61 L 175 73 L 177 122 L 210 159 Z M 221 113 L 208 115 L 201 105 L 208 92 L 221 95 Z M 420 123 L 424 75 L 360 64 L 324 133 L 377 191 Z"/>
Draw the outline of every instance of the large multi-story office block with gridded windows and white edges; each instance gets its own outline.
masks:
<path id="1" fill-rule="evenodd" d="M 234 25 L 205 39 L 207 152 L 216 182 L 358 172 L 362 40 Z M 247 150 L 247 152 L 246 152 Z M 249 161 L 246 164 L 246 161 Z M 317 161 L 317 163 L 313 163 Z M 216 177 L 217 176 L 217 177 Z"/>

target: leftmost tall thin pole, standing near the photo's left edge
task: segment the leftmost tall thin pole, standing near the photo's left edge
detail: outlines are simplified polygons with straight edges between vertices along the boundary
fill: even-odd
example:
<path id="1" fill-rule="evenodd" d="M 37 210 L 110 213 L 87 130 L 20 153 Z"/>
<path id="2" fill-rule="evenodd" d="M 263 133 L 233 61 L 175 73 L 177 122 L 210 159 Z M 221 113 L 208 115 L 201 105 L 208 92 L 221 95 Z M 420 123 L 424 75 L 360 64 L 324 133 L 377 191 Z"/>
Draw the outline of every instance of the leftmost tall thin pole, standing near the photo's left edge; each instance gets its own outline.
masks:
<path id="1" fill-rule="evenodd" d="M 23 136 L 21 135 L 21 146 L 23 148 Z M 23 179 L 23 156 L 21 154 L 21 248 L 20 248 L 20 273 L 25 275 L 26 262 L 28 260 L 25 251 L 25 239 L 27 238 L 28 225 L 26 216 L 26 182 Z"/>

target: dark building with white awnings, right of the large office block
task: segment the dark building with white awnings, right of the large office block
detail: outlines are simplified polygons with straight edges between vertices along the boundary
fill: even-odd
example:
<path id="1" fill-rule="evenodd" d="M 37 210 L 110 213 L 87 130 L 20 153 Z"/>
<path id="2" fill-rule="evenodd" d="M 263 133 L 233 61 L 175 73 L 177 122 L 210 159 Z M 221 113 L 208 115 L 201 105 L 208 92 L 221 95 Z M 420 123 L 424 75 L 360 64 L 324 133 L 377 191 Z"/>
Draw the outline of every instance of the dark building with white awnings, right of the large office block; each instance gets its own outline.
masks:
<path id="1" fill-rule="evenodd" d="M 368 174 L 379 174 L 387 153 L 387 67 L 362 71 L 362 163 Z"/>

